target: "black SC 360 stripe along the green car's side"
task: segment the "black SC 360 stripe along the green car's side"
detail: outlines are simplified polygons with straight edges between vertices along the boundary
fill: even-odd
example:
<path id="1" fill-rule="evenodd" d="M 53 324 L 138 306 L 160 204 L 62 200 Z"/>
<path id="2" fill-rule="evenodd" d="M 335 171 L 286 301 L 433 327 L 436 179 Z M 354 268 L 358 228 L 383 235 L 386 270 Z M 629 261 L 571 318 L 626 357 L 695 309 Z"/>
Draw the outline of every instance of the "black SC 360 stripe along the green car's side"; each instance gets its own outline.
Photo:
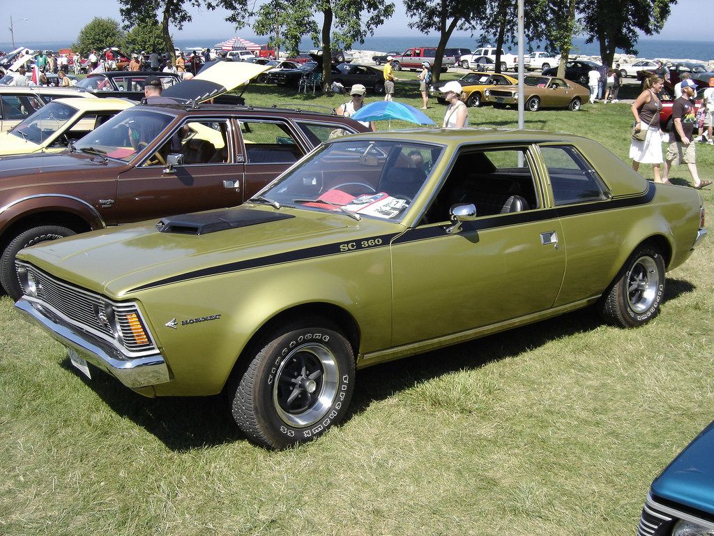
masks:
<path id="1" fill-rule="evenodd" d="M 568 207 L 558 207 L 555 209 L 546 210 L 528 210 L 524 212 L 514 212 L 513 214 L 503 214 L 501 216 L 486 217 L 478 219 L 474 222 L 466 222 L 463 224 L 463 232 L 478 232 L 486 229 L 498 229 L 499 227 L 508 227 L 519 224 L 533 223 L 546 221 L 549 219 L 565 218 L 576 216 L 578 214 L 589 214 L 590 212 L 603 212 L 605 210 L 616 210 L 627 207 L 637 207 L 638 205 L 648 204 L 655 196 L 654 184 L 649 184 L 648 189 L 641 195 L 635 197 L 625 197 L 612 199 L 610 201 L 588 204 L 576 204 Z M 386 247 L 391 244 L 406 244 L 408 242 L 419 242 L 438 237 L 446 237 L 448 233 L 448 225 L 435 225 L 433 227 L 417 227 L 408 229 L 406 232 L 398 232 L 392 234 L 383 234 L 376 237 L 367 237 L 360 239 L 351 239 L 341 242 L 333 242 L 323 246 L 308 247 L 305 249 L 296 249 L 291 252 L 278 253 L 259 257 L 257 259 L 248 259 L 245 261 L 231 262 L 221 264 L 214 267 L 209 267 L 192 272 L 186 272 L 173 277 L 166 277 L 158 281 L 143 284 L 139 287 L 134 287 L 128 292 L 136 292 L 139 290 L 161 287 L 166 284 L 173 284 L 187 281 L 188 279 L 198 279 L 201 277 L 209 277 L 213 275 L 229 274 L 231 272 L 241 272 L 254 268 L 266 266 L 274 266 L 276 264 L 285 264 L 288 262 L 296 262 L 305 259 L 314 259 L 316 257 L 329 257 L 336 254 L 346 254 L 358 252 L 363 249 L 373 249 Z M 455 237 L 458 234 L 453 235 Z M 364 245 L 363 245 L 364 244 Z"/>

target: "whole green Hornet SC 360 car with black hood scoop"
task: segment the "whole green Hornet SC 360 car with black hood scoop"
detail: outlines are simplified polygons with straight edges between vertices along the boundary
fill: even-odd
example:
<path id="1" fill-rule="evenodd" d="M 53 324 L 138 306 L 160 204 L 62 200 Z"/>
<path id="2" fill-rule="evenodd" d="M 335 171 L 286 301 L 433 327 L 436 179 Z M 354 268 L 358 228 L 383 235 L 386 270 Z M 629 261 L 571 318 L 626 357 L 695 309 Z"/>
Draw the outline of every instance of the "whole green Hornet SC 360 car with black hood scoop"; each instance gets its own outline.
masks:
<path id="1" fill-rule="evenodd" d="M 633 327 L 705 237 L 694 189 L 588 139 L 356 134 L 241 207 L 24 249 L 16 307 L 136 392 L 230 394 L 254 442 L 340 422 L 355 369 L 594 304 Z"/>

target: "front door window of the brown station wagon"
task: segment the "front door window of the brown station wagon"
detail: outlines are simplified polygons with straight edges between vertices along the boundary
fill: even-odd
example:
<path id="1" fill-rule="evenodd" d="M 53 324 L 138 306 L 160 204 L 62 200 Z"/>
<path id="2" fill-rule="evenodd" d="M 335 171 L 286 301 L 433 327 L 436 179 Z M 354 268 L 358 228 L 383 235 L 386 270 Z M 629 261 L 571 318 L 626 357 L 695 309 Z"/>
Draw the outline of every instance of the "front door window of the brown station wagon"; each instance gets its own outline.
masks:
<path id="1" fill-rule="evenodd" d="M 185 166 L 225 164 L 228 162 L 228 121 L 186 121 L 144 165 L 162 166 L 169 154 L 182 154 Z"/>

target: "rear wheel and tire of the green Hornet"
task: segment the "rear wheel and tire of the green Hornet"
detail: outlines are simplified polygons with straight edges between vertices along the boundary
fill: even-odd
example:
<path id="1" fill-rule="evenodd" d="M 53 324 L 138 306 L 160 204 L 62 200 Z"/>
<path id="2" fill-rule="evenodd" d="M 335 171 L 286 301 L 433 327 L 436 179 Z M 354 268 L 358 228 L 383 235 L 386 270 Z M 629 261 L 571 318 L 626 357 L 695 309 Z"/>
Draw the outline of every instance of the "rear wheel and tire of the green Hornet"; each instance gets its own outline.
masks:
<path id="1" fill-rule="evenodd" d="M 659 249 L 644 246 L 635 250 L 600 299 L 605 322 L 620 327 L 638 327 L 660 310 L 665 292 L 665 261 Z"/>

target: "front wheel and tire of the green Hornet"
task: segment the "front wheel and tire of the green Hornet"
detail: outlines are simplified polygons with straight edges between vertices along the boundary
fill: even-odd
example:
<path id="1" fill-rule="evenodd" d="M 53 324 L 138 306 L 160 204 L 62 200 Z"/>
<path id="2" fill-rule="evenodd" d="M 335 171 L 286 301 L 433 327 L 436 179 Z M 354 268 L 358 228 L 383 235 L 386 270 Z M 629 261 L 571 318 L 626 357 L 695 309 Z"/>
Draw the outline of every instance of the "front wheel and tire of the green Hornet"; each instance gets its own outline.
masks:
<path id="1" fill-rule="evenodd" d="M 341 422 L 352 397 L 350 343 L 327 321 L 299 326 L 268 337 L 233 394 L 233 419 L 263 447 L 282 449 L 322 435 Z"/>

